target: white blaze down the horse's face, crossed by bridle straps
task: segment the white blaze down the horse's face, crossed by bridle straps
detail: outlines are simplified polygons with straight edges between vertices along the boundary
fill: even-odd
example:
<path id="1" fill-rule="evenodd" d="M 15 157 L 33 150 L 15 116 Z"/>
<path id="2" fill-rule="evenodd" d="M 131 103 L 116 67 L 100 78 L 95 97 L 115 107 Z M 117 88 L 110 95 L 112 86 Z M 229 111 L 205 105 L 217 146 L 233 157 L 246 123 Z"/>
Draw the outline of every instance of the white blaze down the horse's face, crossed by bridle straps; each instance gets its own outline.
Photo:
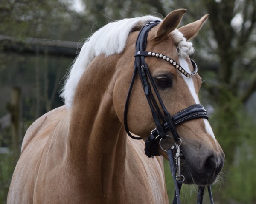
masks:
<path id="1" fill-rule="evenodd" d="M 189 70 L 189 65 L 188 63 L 186 62 L 186 60 L 182 57 L 179 58 L 179 61 L 180 61 L 180 66 L 188 73 L 191 73 L 191 71 Z M 199 98 L 198 98 L 198 94 L 196 93 L 195 91 L 195 85 L 194 85 L 194 82 L 193 82 L 193 77 L 189 78 L 189 77 L 186 77 L 184 74 L 181 74 L 181 76 L 183 77 L 184 81 L 186 82 L 186 84 L 188 85 L 189 87 L 189 90 L 195 100 L 195 103 L 196 104 L 200 104 L 199 102 Z M 205 124 L 205 130 L 206 132 L 212 136 L 212 138 L 216 141 L 215 139 L 215 136 L 213 134 L 213 131 L 212 131 L 212 127 L 211 125 L 209 124 L 208 120 L 207 119 L 204 119 L 204 124 Z"/>

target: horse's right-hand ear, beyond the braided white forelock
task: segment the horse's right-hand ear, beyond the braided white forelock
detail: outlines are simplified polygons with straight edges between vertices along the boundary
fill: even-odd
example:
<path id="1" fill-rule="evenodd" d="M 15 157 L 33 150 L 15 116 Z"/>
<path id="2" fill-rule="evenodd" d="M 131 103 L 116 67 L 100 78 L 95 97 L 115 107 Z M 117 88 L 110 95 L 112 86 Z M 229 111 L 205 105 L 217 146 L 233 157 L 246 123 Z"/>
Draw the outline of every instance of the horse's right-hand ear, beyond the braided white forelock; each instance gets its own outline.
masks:
<path id="1" fill-rule="evenodd" d="M 189 23 L 186 26 L 182 26 L 178 30 L 183 34 L 184 37 L 186 37 L 187 40 L 189 40 L 198 33 L 198 31 L 201 29 L 201 27 L 207 20 L 208 16 L 209 14 L 206 14 L 203 17 L 201 17 L 200 20 L 197 20 L 193 23 Z"/>

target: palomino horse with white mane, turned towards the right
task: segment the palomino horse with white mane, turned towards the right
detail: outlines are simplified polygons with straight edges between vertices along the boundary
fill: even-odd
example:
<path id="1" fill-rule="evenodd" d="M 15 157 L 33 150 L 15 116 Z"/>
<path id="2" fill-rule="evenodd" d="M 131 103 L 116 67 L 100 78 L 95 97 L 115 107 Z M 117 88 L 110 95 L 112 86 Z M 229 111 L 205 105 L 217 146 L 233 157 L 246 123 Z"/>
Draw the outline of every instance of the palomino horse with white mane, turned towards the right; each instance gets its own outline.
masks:
<path id="1" fill-rule="evenodd" d="M 167 158 L 164 150 L 174 140 L 170 136 L 163 139 L 163 150 L 157 144 L 163 157 L 145 156 L 144 141 L 156 124 L 145 97 L 148 89 L 144 86 L 143 90 L 140 77 L 134 78 L 126 122 L 131 133 L 144 141 L 127 136 L 124 110 L 133 76 L 135 41 L 142 27 L 153 21 L 161 22 L 147 33 L 145 50 L 154 51 L 150 54 L 155 56 L 142 53 L 166 110 L 174 116 L 199 104 L 201 78 L 189 59 L 193 48 L 186 39 L 197 34 L 207 15 L 176 29 L 185 12 L 172 11 L 163 21 L 145 16 L 109 23 L 87 40 L 61 94 L 66 105 L 41 116 L 27 130 L 9 189 L 9 204 L 168 203 L 163 157 Z M 159 101 L 154 104 L 157 106 Z M 158 111 L 163 112 L 161 108 Z M 180 123 L 172 133 L 182 140 L 184 183 L 214 183 L 224 153 L 207 119 Z"/>

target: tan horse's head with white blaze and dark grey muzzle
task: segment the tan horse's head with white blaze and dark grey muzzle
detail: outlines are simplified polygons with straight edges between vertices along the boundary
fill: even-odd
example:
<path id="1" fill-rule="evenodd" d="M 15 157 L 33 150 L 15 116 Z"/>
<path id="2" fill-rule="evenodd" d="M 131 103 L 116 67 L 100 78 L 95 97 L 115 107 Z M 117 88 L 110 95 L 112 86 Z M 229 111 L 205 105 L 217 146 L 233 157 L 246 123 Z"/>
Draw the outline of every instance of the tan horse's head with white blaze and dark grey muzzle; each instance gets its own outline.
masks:
<path id="1" fill-rule="evenodd" d="M 189 54 L 194 51 L 192 43 L 186 40 L 198 33 L 208 15 L 177 29 L 185 12 L 185 9 L 172 11 L 162 22 L 152 27 L 146 36 L 145 51 L 148 53 L 143 54 L 157 92 L 171 116 L 200 103 L 198 92 L 202 80 L 196 73 L 195 62 L 189 58 Z M 134 42 L 140 29 L 141 27 L 138 27 L 129 34 L 126 48 L 116 64 L 118 74 L 116 74 L 113 88 L 113 103 L 116 114 L 122 123 L 124 123 L 125 99 L 134 67 L 131 56 L 136 50 Z M 150 79 L 147 80 L 150 81 Z M 151 89 L 153 88 L 151 87 Z M 155 92 L 152 95 L 157 98 Z M 161 107 L 158 100 L 156 103 L 157 105 L 153 106 Z M 158 112 L 162 112 L 164 115 L 162 109 Z M 144 141 L 156 126 L 145 97 L 145 88 L 143 90 L 139 76 L 135 77 L 131 90 L 127 123 L 130 132 L 142 137 Z M 175 125 L 175 128 L 182 141 L 180 145 L 183 155 L 181 174 L 185 178 L 184 182 L 201 186 L 214 183 L 224 165 L 224 153 L 208 120 L 203 117 L 193 118 Z M 168 131 L 166 134 L 172 136 L 172 133 Z M 167 159 L 165 150 L 168 150 L 174 143 L 175 141 L 171 137 L 163 139 L 161 147 L 158 145 L 159 153 Z"/>

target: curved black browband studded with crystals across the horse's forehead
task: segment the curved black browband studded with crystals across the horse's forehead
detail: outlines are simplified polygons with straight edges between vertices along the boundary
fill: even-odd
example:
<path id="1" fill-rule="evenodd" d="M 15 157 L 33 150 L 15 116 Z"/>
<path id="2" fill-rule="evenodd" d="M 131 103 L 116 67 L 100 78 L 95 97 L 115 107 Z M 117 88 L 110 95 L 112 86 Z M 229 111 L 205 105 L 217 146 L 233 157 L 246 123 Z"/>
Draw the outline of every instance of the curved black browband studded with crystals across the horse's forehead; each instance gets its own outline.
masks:
<path id="1" fill-rule="evenodd" d="M 145 52 L 145 51 L 138 51 L 135 56 L 152 56 L 152 57 L 158 57 L 161 59 L 166 60 L 167 62 L 170 62 L 171 65 L 173 65 L 178 71 L 180 71 L 183 75 L 185 75 L 186 77 L 194 77 L 195 74 L 198 72 L 198 67 L 196 65 L 196 63 L 194 62 L 194 60 L 190 59 L 194 71 L 192 73 L 188 73 L 185 71 L 185 69 L 183 69 L 177 62 L 175 62 L 172 58 L 167 57 L 166 55 L 160 54 L 160 53 L 155 53 L 155 52 Z"/>

